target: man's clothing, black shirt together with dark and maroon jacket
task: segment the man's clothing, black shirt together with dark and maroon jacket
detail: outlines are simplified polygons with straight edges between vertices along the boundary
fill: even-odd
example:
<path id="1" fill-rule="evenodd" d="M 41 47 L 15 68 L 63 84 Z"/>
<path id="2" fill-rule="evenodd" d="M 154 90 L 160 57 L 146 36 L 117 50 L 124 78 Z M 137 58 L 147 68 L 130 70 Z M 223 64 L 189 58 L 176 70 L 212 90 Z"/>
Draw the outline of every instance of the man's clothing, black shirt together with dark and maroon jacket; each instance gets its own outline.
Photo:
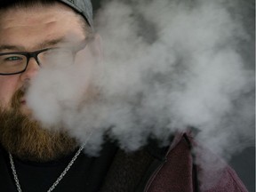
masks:
<path id="1" fill-rule="evenodd" d="M 159 148 L 156 143 L 151 142 L 147 147 L 132 153 L 125 153 L 114 144 L 108 143 L 99 157 L 80 154 L 54 191 L 248 192 L 228 164 L 219 170 L 218 178 L 214 178 L 211 188 L 202 188 L 204 187 L 202 184 L 212 182 L 212 178 L 209 177 L 209 170 L 204 170 L 202 167 L 197 169 L 195 156 L 191 154 L 193 145 L 196 145 L 193 137 L 182 132 L 175 135 L 170 146 Z M 209 152 L 202 148 L 202 151 L 196 154 L 197 160 L 202 155 L 209 156 Z M 68 165 L 72 156 L 47 164 L 14 159 L 23 192 L 47 191 Z M 215 159 L 215 156 L 212 157 Z M 221 159 L 218 161 L 223 163 Z M 197 175 L 201 179 L 200 182 L 197 180 Z M 216 172 L 213 175 L 217 175 Z M 9 157 L 3 148 L 0 148 L 0 190 L 17 192 Z"/>

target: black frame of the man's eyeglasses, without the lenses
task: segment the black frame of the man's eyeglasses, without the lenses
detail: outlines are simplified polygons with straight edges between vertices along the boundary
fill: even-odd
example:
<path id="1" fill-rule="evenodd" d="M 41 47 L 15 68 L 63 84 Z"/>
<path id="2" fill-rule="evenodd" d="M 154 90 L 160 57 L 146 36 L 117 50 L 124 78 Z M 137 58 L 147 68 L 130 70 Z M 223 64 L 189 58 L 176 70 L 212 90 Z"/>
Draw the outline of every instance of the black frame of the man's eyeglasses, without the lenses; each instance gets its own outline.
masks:
<path id="1" fill-rule="evenodd" d="M 81 51 L 82 49 L 85 48 L 85 46 L 90 43 L 92 41 L 93 38 L 86 38 L 82 43 L 78 44 L 78 46 L 76 47 L 71 47 L 71 51 L 76 53 L 76 52 L 79 52 Z M 42 49 L 42 50 L 38 50 L 36 52 L 0 52 L 0 56 L 3 56 L 3 55 L 8 55 L 8 54 L 16 54 L 16 55 L 23 55 L 23 56 L 26 56 L 27 58 L 27 64 L 26 64 L 26 67 L 19 71 L 19 72 L 15 72 L 15 73 L 0 73 L 0 76 L 12 76 L 12 75 L 17 75 L 17 74 L 20 74 L 20 73 L 23 73 L 27 70 L 28 68 L 28 63 L 29 63 L 29 60 L 31 58 L 34 58 L 36 60 L 36 63 L 37 65 L 40 67 L 40 62 L 38 60 L 38 54 L 42 53 L 42 52 L 47 52 L 49 50 L 54 50 L 54 49 L 68 49 L 70 47 L 52 47 L 52 48 L 45 48 L 45 49 Z"/>

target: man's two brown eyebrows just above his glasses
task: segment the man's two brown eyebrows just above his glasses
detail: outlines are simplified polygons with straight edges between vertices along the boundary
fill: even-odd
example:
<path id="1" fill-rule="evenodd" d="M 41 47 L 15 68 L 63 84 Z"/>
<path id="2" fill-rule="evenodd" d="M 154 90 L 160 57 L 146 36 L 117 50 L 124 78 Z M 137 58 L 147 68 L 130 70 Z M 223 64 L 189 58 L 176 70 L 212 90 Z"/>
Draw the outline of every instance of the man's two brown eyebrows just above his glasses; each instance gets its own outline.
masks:
<path id="1" fill-rule="evenodd" d="M 53 45 L 64 43 L 64 42 L 65 42 L 65 37 L 63 36 L 63 37 L 60 37 L 57 39 L 47 40 L 41 44 L 37 44 L 36 49 L 47 48 L 48 46 L 53 46 Z M 0 44 L 0 52 L 2 52 L 4 50 L 25 51 L 26 48 L 21 45 Z"/>

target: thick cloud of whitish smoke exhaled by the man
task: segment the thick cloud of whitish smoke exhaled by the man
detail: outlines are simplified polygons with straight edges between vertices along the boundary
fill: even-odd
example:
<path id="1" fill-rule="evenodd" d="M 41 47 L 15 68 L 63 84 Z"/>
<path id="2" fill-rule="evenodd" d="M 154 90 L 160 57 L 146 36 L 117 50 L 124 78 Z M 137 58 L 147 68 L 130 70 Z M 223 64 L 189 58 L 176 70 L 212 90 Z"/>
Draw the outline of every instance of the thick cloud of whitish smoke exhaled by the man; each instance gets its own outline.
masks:
<path id="1" fill-rule="evenodd" d="M 104 132 L 135 150 L 188 127 L 220 155 L 252 144 L 253 73 L 241 50 L 252 39 L 230 2 L 108 1 L 95 20 L 102 62 L 89 58 L 92 44 L 72 66 L 60 57 L 31 85 L 30 108 L 81 142 L 93 130 L 91 152 Z"/>

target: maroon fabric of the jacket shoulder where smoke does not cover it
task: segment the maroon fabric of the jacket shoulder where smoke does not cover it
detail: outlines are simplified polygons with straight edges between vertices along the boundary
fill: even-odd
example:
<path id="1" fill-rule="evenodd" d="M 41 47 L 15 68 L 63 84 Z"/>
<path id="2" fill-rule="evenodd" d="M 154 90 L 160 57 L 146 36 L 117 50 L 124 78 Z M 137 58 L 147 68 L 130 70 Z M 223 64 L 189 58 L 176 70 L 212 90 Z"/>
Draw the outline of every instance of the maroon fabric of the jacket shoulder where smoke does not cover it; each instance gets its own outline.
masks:
<path id="1" fill-rule="evenodd" d="M 214 170 L 212 170 L 212 172 L 204 172 L 204 170 L 200 168 L 200 165 L 196 166 L 196 164 L 193 164 L 193 156 L 191 156 L 190 151 L 191 146 L 189 146 L 189 143 L 191 142 L 193 142 L 192 138 L 188 137 L 188 134 L 186 133 L 181 133 L 176 136 L 166 156 L 167 161 L 162 164 L 151 177 L 151 180 L 149 181 L 145 191 L 247 191 L 242 181 L 237 177 L 236 172 L 234 172 L 234 170 L 232 170 L 228 164 L 225 164 L 225 167 L 218 170 L 217 173 L 219 177 L 217 178 L 216 172 L 212 175 Z M 205 150 L 204 152 L 210 153 Z M 222 161 L 221 164 L 223 164 Z"/>

